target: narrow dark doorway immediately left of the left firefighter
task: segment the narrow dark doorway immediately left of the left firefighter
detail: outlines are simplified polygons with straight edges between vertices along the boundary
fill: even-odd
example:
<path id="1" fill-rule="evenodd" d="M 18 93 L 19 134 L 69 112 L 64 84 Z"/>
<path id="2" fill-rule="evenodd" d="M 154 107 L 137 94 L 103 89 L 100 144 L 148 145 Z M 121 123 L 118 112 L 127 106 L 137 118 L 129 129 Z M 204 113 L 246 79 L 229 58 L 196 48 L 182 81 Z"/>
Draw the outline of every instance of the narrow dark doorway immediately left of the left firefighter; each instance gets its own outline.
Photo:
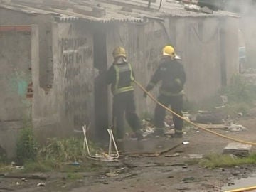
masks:
<path id="1" fill-rule="evenodd" d="M 95 29 L 93 36 L 94 67 L 99 70 L 95 78 L 95 139 L 107 139 L 108 97 L 105 74 L 107 72 L 106 33 L 102 28 Z"/>

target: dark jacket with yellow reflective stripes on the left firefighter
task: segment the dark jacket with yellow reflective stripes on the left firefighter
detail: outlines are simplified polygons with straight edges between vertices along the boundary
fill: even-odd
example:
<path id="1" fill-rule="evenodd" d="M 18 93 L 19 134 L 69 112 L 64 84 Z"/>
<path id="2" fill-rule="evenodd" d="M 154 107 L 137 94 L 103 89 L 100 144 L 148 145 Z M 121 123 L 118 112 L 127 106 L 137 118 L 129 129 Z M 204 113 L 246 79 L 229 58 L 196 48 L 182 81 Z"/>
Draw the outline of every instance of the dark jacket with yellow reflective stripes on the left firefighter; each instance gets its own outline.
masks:
<path id="1" fill-rule="evenodd" d="M 107 71 L 107 84 L 111 84 L 111 90 L 114 95 L 134 90 L 133 81 L 134 74 L 130 63 L 113 63 Z"/>

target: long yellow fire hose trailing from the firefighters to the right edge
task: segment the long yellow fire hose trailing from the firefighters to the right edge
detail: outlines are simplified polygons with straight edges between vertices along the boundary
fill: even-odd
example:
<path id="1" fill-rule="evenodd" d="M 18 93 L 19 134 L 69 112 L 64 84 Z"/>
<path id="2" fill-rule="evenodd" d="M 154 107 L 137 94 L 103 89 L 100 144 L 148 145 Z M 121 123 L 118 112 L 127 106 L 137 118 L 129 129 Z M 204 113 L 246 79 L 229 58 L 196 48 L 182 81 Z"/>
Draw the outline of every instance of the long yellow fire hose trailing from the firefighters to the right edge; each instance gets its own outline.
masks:
<path id="1" fill-rule="evenodd" d="M 135 82 L 136 85 L 139 86 L 140 89 L 142 89 L 144 92 L 146 92 L 146 95 L 149 95 L 149 97 L 151 98 L 151 100 L 153 100 L 154 102 L 156 102 L 156 103 L 157 103 L 158 105 L 160 105 L 161 107 L 164 107 L 164 109 L 166 109 L 168 112 L 171 112 L 171 114 L 174 114 L 174 115 L 176 115 L 177 117 L 183 119 L 183 121 L 188 122 L 188 124 L 192 124 L 193 126 L 198 127 L 199 129 L 203 129 L 203 130 L 206 131 L 206 132 L 209 132 L 209 133 L 211 133 L 211 134 L 218 135 L 219 137 L 223 137 L 223 138 L 225 138 L 225 139 L 230 139 L 230 140 L 235 141 L 235 142 L 240 142 L 240 143 L 243 143 L 243 144 L 251 144 L 251 145 L 255 145 L 255 146 L 256 146 L 256 143 L 254 143 L 254 142 L 247 142 L 247 141 L 244 141 L 244 140 L 241 140 L 241 139 L 235 139 L 235 138 L 233 138 L 233 137 L 228 137 L 228 136 L 225 136 L 225 135 L 223 135 L 223 134 L 219 134 L 219 133 L 217 133 L 217 132 L 213 132 L 213 131 L 211 131 L 211 130 L 205 128 L 205 127 L 202 127 L 202 126 L 200 126 L 200 125 L 198 125 L 198 124 L 196 124 L 196 123 L 194 123 L 194 122 L 189 121 L 188 119 L 182 117 L 181 115 L 176 114 L 176 112 L 174 112 L 174 111 L 172 111 L 171 109 L 169 109 L 169 107 L 166 107 L 165 105 L 163 105 L 163 104 L 161 104 L 160 102 L 158 102 L 149 92 L 146 91 L 146 89 L 145 89 L 139 82 L 137 82 L 136 80 L 134 80 L 134 82 Z"/>

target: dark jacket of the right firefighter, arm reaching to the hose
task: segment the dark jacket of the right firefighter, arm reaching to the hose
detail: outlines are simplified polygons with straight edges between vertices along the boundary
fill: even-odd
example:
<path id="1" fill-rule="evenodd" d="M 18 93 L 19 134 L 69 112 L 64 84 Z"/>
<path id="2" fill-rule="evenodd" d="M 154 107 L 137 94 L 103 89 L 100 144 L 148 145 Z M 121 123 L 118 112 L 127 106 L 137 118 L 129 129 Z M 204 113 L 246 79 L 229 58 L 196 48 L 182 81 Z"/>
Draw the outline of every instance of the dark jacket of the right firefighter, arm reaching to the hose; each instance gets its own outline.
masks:
<path id="1" fill-rule="evenodd" d="M 178 60 L 171 58 L 162 58 L 159 67 L 152 76 L 146 90 L 150 91 L 161 81 L 160 93 L 162 95 L 181 95 L 183 94 L 183 85 L 186 82 L 186 73 L 183 65 Z"/>

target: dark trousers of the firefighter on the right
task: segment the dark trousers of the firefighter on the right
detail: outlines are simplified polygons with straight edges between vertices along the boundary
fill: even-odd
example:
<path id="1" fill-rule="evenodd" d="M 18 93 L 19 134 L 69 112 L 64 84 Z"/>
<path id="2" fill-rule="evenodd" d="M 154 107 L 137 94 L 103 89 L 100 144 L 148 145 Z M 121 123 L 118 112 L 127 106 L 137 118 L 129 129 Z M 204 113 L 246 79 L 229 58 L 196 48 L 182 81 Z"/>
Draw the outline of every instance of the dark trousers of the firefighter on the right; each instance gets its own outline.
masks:
<path id="1" fill-rule="evenodd" d="M 183 106 L 183 95 L 176 95 L 176 96 L 159 95 L 158 101 L 161 102 L 161 104 L 163 104 L 166 107 L 169 107 L 169 105 L 171 105 L 171 110 L 183 116 L 181 112 L 182 106 Z M 156 105 L 156 108 L 154 111 L 154 125 L 157 128 L 164 127 L 165 116 L 166 116 L 166 110 L 164 109 L 164 107 L 161 107 L 160 105 Z M 183 120 L 174 114 L 173 114 L 173 119 L 174 119 L 175 132 L 182 133 Z"/>

